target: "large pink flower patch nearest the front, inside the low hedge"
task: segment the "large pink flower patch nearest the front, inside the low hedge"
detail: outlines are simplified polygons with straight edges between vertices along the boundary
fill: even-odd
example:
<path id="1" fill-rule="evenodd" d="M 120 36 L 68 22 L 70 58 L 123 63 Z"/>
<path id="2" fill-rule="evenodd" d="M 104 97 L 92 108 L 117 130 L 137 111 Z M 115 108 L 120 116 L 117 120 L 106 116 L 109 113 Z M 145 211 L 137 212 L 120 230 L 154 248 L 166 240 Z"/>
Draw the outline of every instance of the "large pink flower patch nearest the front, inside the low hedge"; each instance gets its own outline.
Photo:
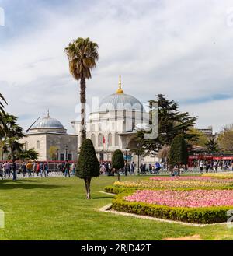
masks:
<path id="1" fill-rule="evenodd" d="M 172 207 L 210 207 L 233 205 L 233 190 L 137 190 L 124 197 L 128 202 L 145 202 Z"/>

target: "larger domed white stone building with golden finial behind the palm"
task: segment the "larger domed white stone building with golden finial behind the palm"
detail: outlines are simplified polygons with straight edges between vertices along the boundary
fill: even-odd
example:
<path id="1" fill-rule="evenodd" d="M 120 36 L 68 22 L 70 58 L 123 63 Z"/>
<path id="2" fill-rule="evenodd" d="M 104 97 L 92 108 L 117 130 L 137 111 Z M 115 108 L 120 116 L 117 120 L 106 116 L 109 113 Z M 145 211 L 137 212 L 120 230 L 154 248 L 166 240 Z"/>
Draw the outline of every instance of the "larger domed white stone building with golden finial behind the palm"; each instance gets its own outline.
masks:
<path id="1" fill-rule="evenodd" d="M 117 92 L 103 98 L 99 109 L 90 113 L 86 121 L 86 136 L 92 139 L 99 161 L 110 161 L 116 149 L 122 150 L 125 159 L 134 160 L 136 156 L 130 149 L 137 147 L 137 127 L 148 123 L 148 118 L 142 103 L 123 92 L 120 79 Z M 71 124 L 80 136 L 81 122 Z M 80 146 L 79 140 L 78 149 Z"/>

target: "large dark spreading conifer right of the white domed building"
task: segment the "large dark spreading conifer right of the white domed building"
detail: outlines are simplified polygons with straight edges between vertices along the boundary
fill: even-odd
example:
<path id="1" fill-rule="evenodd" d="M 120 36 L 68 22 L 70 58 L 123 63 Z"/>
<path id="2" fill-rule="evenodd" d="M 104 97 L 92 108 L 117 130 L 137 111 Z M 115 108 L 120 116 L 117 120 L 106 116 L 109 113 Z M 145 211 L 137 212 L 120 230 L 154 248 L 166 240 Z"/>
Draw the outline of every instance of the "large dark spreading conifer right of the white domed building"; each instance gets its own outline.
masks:
<path id="1" fill-rule="evenodd" d="M 157 100 L 149 100 L 149 107 L 158 104 L 158 137 L 156 139 L 144 140 L 137 132 L 137 138 L 141 139 L 144 149 L 151 154 L 158 153 L 162 146 L 169 146 L 176 135 L 183 134 L 185 139 L 194 139 L 195 134 L 187 131 L 196 124 L 197 117 L 190 117 L 188 112 L 179 111 L 179 103 L 167 100 L 164 95 L 158 94 Z M 152 113 L 150 111 L 152 118 Z M 146 133 L 146 132 L 144 132 Z"/>

